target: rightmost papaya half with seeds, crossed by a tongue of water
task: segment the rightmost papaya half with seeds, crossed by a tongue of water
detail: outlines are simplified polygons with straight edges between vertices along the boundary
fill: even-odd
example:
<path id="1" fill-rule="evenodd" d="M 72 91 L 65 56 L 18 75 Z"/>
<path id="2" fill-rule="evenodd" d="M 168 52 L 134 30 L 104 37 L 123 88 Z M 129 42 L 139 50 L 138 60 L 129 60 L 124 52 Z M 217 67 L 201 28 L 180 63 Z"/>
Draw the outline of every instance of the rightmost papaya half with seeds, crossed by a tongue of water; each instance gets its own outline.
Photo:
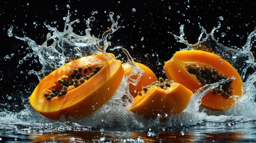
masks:
<path id="1" fill-rule="evenodd" d="M 169 79 L 196 92 L 203 85 L 227 80 L 202 98 L 202 105 L 212 110 L 226 110 L 235 104 L 233 96 L 243 94 L 243 82 L 238 71 L 226 60 L 211 52 L 189 50 L 176 52 L 166 61 Z M 235 76 L 235 79 L 230 79 Z"/>

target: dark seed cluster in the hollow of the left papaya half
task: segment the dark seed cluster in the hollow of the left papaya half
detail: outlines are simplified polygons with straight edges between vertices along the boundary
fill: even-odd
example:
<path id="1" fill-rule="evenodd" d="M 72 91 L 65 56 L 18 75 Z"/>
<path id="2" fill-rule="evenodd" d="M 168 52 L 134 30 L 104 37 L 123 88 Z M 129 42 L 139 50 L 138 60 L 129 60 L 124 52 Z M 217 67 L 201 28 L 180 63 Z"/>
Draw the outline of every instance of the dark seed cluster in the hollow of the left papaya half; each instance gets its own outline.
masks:
<path id="1" fill-rule="evenodd" d="M 54 97 L 61 97 L 67 94 L 67 91 L 77 88 L 82 83 L 89 80 L 92 76 L 98 73 L 101 70 L 101 66 L 96 66 L 92 68 L 91 66 L 87 67 L 78 67 L 78 69 L 72 70 L 68 76 L 63 76 L 61 79 L 57 80 L 53 89 L 47 89 L 48 92 L 45 92 L 44 96 L 50 101 Z"/>

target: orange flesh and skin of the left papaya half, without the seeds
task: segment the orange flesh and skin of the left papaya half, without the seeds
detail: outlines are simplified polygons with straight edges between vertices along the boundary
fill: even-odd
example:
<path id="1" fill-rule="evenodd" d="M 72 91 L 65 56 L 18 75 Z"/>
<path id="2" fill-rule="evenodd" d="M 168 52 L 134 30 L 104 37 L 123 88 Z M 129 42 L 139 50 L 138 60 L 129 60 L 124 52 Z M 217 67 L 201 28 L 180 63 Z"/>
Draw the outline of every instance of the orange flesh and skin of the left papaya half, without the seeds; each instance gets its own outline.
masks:
<path id="1" fill-rule="evenodd" d="M 45 90 L 51 88 L 53 83 L 64 74 L 70 74 L 79 66 L 103 67 L 82 85 L 78 86 L 66 95 L 53 98 L 50 101 L 44 97 Z M 65 64 L 54 70 L 42 79 L 29 98 L 30 104 L 35 110 L 48 119 L 58 120 L 61 116 L 84 117 L 92 114 L 103 104 L 112 98 L 124 76 L 121 61 L 114 60 L 113 54 L 90 55 Z"/>

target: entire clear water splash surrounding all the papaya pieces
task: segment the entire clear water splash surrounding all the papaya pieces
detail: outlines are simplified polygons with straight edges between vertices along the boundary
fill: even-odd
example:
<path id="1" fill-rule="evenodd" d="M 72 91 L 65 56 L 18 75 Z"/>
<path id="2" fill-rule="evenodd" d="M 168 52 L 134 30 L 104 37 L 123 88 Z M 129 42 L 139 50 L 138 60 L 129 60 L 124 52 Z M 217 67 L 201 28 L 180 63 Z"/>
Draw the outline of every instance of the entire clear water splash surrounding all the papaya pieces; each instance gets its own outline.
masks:
<path id="1" fill-rule="evenodd" d="M 97 14 L 97 12 L 92 12 L 92 15 L 94 14 Z M 117 19 L 115 21 L 113 15 L 114 13 L 109 13 L 112 26 L 109 30 L 103 33 L 101 38 L 95 38 L 93 35 L 90 34 L 90 23 L 95 20 L 94 17 L 90 17 L 86 20 L 87 29 L 85 29 L 85 36 L 73 33 L 72 25 L 74 23 L 79 23 L 80 21 L 70 21 L 70 13 L 68 13 L 66 17 L 63 17 L 63 20 L 65 21 L 63 32 L 60 32 L 55 27 L 51 27 L 50 25 L 44 23 L 45 27 L 47 27 L 47 29 L 50 30 L 51 33 L 47 34 L 47 40 L 42 45 L 38 45 L 30 38 L 20 38 L 18 36 L 15 36 L 17 39 L 26 41 L 29 45 L 29 49 L 32 49 L 33 51 L 23 57 L 23 59 L 20 60 L 20 64 L 22 64 L 23 61 L 26 61 L 27 58 L 38 57 L 39 62 L 42 64 L 42 70 L 30 70 L 29 73 L 36 74 L 40 80 L 52 70 L 57 69 L 58 67 L 63 66 L 63 64 L 69 62 L 70 59 L 75 60 L 76 58 L 84 57 L 87 55 L 98 54 L 101 52 L 106 53 L 107 48 L 111 46 L 111 43 L 107 41 L 107 38 L 119 29 L 118 19 L 120 17 L 116 16 Z M 243 80 L 245 80 L 245 95 L 243 95 L 242 98 L 240 98 L 239 100 L 236 100 L 236 105 L 234 108 L 222 112 L 211 110 L 206 111 L 205 109 L 201 108 L 201 100 L 203 95 L 205 95 L 207 92 L 211 91 L 211 89 L 217 87 L 218 85 L 225 83 L 228 80 L 227 79 L 221 82 L 213 83 L 211 85 L 205 85 L 201 89 L 199 89 L 198 92 L 193 95 L 192 101 L 190 102 L 186 110 L 183 111 L 183 113 L 159 113 L 156 119 L 145 120 L 143 116 L 132 113 L 126 108 L 133 102 L 133 98 L 129 94 L 128 85 L 130 83 L 136 85 L 136 82 L 138 82 L 139 80 L 139 78 L 129 79 L 129 77 L 131 77 L 132 75 L 138 75 L 138 77 L 140 77 L 143 74 L 143 70 L 141 70 L 138 66 L 134 65 L 134 61 L 132 60 L 131 55 L 129 55 L 126 49 L 122 48 L 121 46 L 115 46 L 115 48 L 110 50 L 122 49 L 125 55 L 127 55 L 127 63 L 133 67 L 132 74 L 122 79 L 122 83 L 112 99 L 105 105 L 103 105 L 103 107 L 101 107 L 99 110 L 95 111 L 94 114 L 85 117 L 82 120 L 76 120 L 72 118 L 70 118 L 70 120 L 78 123 L 81 126 L 92 126 L 95 128 L 120 128 L 121 130 L 147 128 L 161 129 L 175 126 L 195 125 L 202 120 L 209 122 L 226 122 L 228 120 L 252 120 L 256 116 L 256 113 L 254 111 L 254 109 L 256 108 L 254 102 L 256 93 L 256 74 L 249 74 L 247 78 L 245 78 L 245 74 L 250 66 L 255 67 L 255 60 L 252 55 L 251 48 L 253 47 L 252 44 L 254 43 L 254 41 L 252 39 L 255 38 L 256 30 L 250 33 L 245 45 L 242 46 L 242 48 L 234 49 L 228 48 L 227 46 L 218 43 L 214 39 L 214 32 L 215 30 L 219 29 L 220 26 L 221 24 L 218 23 L 218 26 L 214 27 L 211 33 L 206 33 L 206 30 L 203 29 L 202 26 L 200 26 L 201 34 L 199 35 L 198 42 L 195 44 L 190 44 L 184 39 L 184 25 L 180 26 L 180 36 L 174 34 L 172 35 L 174 35 L 178 42 L 187 45 L 187 48 L 184 49 L 203 49 L 206 51 L 215 52 L 221 55 L 221 57 L 223 57 L 230 63 L 232 63 L 234 67 L 239 67 L 239 73 L 242 76 Z M 12 31 L 13 26 L 11 26 L 8 30 L 8 36 L 13 36 Z M 51 44 L 49 45 L 48 43 Z M 42 117 L 30 106 L 27 106 L 25 110 L 21 111 L 17 115 L 2 113 L 2 116 L 4 116 L 4 119 L 8 119 L 8 121 L 14 122 L 15 125 L 24 122 L 27 123 L 27 126 L 40 125 L 48 127 L 49 124 L 56 124 L 57 126 L 61 127 L 67 125 L 67 122 L 64 119 L 61 119 L 58 123 L 53 123 L 53 121 L 45 119 L 45 117 Z M 5 120 L 1 120 L 0 123 L 1 125 L 3 125 L 3 123 L 11 125 L 11 123 L 6 122 Z"/>

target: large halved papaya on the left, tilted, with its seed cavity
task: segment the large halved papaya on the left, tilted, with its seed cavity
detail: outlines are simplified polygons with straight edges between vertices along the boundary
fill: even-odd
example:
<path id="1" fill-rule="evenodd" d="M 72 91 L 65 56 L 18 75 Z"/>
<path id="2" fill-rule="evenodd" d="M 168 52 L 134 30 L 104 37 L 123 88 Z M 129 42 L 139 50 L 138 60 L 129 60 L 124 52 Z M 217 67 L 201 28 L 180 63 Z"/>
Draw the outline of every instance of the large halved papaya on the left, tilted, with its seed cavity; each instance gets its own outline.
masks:
<path id="1" fill-rule="evenodd" d="M 121 61 L 113 54 L 82 57 L 44 77 L 29 101 L 49 119 L 88 116 L 110 100 L 123 76 Z"/>

